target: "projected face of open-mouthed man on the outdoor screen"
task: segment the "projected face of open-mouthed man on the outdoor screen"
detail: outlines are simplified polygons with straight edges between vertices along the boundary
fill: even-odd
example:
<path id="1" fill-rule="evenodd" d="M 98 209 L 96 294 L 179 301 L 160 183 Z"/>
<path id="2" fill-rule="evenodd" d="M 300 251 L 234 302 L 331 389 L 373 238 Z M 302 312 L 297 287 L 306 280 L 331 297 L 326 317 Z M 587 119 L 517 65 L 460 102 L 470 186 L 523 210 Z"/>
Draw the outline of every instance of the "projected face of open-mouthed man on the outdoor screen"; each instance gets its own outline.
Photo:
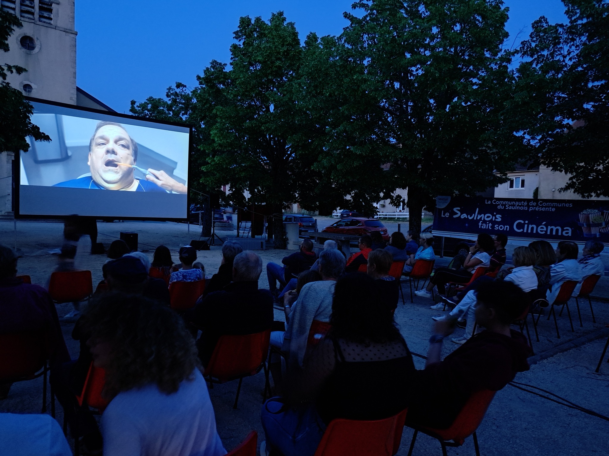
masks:
<path id="1" fill-rule="evenodd" d="M 97 130 L 89 151 L 91 177 L 108 190 L 128 188 L 133 185 L 133 168 L 117 163 L 135 165 L 131 138 L 120 126 L 104 125 Z"/>

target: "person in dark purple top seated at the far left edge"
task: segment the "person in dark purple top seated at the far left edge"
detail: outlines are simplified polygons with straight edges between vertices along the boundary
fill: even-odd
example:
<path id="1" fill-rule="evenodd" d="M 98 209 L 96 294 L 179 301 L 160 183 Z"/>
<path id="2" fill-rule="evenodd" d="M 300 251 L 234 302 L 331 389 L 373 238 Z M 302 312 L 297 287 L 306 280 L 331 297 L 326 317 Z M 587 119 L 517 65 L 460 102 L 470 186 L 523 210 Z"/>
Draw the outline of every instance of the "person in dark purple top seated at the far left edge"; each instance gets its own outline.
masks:
<path id="1" fill-rule="evenodd" d="M 16 275 L 17 257 L 13 250 L 0 244 L 0 334 L 46 331 L 51 367 L 69 361 L 51 295 L 41 286 L 23 283 Z M 0 385 L 0 399 L 9 394 L 10 385 Z"/>

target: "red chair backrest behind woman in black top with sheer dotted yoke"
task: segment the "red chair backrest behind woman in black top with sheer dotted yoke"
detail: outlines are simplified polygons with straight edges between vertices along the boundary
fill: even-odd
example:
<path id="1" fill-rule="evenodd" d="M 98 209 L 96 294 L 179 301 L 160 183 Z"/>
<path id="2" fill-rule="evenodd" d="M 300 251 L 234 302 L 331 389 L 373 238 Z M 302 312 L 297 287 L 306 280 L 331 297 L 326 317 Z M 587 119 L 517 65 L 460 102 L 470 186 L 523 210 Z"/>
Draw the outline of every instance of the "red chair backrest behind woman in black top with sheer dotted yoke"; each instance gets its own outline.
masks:
<path id="1" fill-rule="evenodd" d="M 315 456 L 392 456 L 398 452 L 406 411 L 384 420 L 332 420 Z"/>

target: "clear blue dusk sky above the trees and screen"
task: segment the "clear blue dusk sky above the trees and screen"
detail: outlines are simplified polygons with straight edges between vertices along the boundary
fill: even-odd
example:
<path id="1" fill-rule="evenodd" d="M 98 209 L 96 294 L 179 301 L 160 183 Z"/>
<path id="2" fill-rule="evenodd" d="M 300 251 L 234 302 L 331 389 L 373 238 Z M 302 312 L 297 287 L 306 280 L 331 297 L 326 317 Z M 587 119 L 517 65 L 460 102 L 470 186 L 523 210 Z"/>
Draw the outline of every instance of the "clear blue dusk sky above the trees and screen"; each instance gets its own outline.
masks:
<path id="1" fill-rule="evenodd" d="M 176 81 L 196 84 L 211 60 L 228 63 L 241 16 L 283 11 L 300 40 L 309 32 L 339 35 L 352 0 L 105 0 L 76 1 L 77 85 L 119 112 L 130 100 L 163 97 Z M 516 43 L 539 16 L 564 22 L 560 0 L 505 0 L 507 30 Z"/>

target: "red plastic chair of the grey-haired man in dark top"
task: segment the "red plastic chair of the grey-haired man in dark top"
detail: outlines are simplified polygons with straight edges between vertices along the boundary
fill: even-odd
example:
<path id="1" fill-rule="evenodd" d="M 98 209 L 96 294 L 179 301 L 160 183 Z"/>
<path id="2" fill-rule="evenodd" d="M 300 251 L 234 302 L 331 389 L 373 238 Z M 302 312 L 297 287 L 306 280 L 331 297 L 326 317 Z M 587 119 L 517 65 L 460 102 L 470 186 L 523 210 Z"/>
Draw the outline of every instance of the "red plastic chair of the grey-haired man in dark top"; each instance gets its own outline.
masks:
<path id="1" fill-rule="evenodd" d="M 256 375 L 262 368 L 266 378 L 262 402 L 266 400 L 267 390 L 270 391 L 269 370 L 266 365 L 269 341 L 270 330 L 255 334 L 225 335 L 218 340 L 203 377 L 209 382 L 210 388 L 213 388 L 214 383 L 239 379 L 233 409 L 237 408 L 243 378 Z"/>

